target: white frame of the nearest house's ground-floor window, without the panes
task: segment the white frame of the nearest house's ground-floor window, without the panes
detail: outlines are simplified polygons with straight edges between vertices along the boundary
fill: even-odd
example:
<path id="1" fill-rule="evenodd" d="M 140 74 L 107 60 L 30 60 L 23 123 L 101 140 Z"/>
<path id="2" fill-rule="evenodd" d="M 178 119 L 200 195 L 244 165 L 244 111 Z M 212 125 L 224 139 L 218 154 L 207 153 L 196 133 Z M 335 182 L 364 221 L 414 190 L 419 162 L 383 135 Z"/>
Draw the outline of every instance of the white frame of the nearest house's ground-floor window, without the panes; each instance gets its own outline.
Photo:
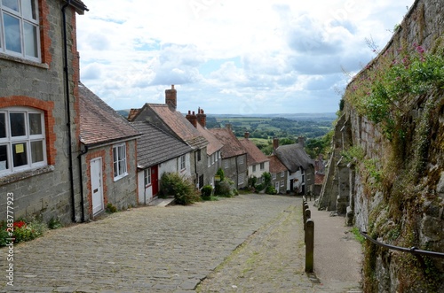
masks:
<path id="1" fill-rule="evenodd" d="M 6 153 L 4 159 L 0 163 L 0 176 L 11 173 L 28 171 L 42 166 L 47 166 L 46 158 L 46 127 L 44 125 L 44 112 L 29 107 L 8 107 L 1 108 L 0 113 L 4 115 L 4 135 L 0 138 L 0 146 L 4 147 Z M 24 118 L 24 135 L 12 136 L 11 114 L 23 114 Z M 37 126 L 41 130 L 40 134 L 32 134 L 32 126 L 30 125 L 30 114 L 40 115 L 40 125 Z M 2 122 L 0 122 L 0 125 Z M 14 125 L 15 126 L 15 125 Z M 40 160 L 33 162 L 33 143 L 41 142 L 41 152 L 38 155 Z M 19 152 L 20 151 L 20 152 Z M 26 156 L 26 164 L 14 166 L 14 153 L 24 153 Z"/>

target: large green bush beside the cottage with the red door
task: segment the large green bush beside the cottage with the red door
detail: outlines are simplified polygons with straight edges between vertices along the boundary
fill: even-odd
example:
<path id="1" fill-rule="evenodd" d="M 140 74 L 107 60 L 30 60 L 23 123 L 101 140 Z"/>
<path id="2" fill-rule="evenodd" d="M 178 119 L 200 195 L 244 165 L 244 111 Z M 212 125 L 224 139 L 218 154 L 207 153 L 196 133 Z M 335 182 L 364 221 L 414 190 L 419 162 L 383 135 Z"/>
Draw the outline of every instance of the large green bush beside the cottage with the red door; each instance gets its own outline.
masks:
<path id="1" fill-rule="evenodd" d="M 160 191 L 163 197 L 174 196 L 176 204 L 194 204 L 201 200 L 193 182 L 178 173 L 163 173 Z"/>

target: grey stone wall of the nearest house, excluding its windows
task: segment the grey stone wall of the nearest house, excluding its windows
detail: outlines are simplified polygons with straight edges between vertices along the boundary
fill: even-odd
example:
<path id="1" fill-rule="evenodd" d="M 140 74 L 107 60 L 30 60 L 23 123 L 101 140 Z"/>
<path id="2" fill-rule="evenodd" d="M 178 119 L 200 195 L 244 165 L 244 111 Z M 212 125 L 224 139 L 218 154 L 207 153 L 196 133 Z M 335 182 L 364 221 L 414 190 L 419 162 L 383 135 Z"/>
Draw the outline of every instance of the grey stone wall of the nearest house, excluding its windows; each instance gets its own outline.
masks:
<path id="1" fill-rule="evenodd" d="M 72 214 L 71 184 L 69 177 L 67 111 L 65 106 L 65 83 L 63 74 L 63 39 L 62 39 L 62 13 L 63 2 L 55 0 L 42 1 L 44 12 L 41 15 L 41 29 L 47 32 L 43 35 L 44 42 L 41 50 L 44 55 L 42 63 L 29 62 L 21 58 L 0 55 L 0 107 L 13 106 L 15 102 L 20 106 L 38 104 L 38 101 L 52 102 L 53 109 L 49 113 L 53 120 L 46 123 L 46 148 L 52 150 L 54 156 L 49 166 L 23 173 L 14 173 L 0 178 L 0 220 L 6 219 L 5 197 L 7 193 L 14 194 L 14 216 L 30 217 L 41 215 L 43 220 L 52 218 L 62 222 L 71 222 L 80 219 L 80 195 L 78 165 L 75 157 L 77 148 L 75 107 L 75 77 L 76 68 L 70 70 L 70 105 L 69 116 L 72 124 L 72 150 L 74 151 L 73 173 L 75 194 L 75 215 Z M 39 4 L 41 4 L 39 2 Z M 75 27 L 75 12 L 67 9 L 67 31 L 70 36 Z M 75 33 L 75 32 L 74 32 Z M 51 42 L 49 42 L 51 41 Z M 48 47 L 51 46 L 51 47 Z M 68 43 L 68 64 L 78 63 L 77 55 L 72 54 L 75 49 L 75 40 Z M 12 97 L 11 102 L 7 102 Z M 36 104 L 24 104 L 26 98 L 35 99 Z M 15 102 L 14 102 L 15 101 Z M 10 103 L 10 104 L 8 104 Z M 48 135 L 53 134 L 53 137 Z M 48 143 L 52 140 L 52 143 Z M 49 158 L 48 158 L 49 159 Z"/>

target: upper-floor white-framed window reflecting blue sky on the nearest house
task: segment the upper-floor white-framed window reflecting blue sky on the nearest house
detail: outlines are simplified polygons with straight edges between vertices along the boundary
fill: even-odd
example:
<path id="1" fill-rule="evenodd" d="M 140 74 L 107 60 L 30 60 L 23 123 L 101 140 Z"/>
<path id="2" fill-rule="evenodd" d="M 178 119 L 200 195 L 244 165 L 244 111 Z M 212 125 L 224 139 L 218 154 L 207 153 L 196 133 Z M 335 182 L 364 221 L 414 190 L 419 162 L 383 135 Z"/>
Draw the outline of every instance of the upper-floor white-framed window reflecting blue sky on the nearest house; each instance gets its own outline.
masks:
<path id="1" fill-rule="evenodd" d="M 0 51 L 40 61 L 37 0 L 0 1 Z"/>

